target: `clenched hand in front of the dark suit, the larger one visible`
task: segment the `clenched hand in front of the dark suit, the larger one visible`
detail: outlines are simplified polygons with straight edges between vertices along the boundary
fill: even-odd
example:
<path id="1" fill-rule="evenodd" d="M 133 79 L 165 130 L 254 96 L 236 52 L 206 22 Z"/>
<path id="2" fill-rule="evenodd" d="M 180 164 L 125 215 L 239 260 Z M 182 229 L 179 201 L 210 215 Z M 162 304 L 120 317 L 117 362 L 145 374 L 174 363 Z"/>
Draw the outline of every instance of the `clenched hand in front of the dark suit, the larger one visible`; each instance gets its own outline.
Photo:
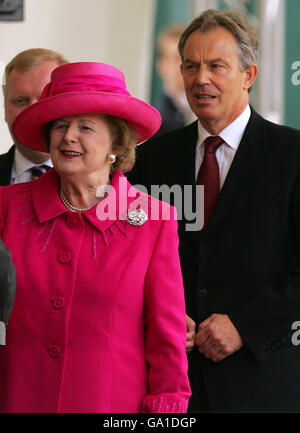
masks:
<path id="1" fill-rule="evenodd" d="M 195 344 L 206 358 L 221 361 L 239 350 L 244 342 L 227 314 L 212 314 L 200 323 Z"/>

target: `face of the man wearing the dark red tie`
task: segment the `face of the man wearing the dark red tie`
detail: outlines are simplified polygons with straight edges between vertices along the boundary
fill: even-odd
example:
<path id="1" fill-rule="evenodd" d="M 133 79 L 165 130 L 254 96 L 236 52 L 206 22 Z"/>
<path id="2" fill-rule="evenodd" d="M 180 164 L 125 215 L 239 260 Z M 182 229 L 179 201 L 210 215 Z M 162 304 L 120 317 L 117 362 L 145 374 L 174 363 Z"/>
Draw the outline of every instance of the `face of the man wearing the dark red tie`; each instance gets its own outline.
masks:
<path id="1" fill-rule="evenodd" d="M 238 46 L 223 27 L 195 30 L 183 50 L 182 74 L 189 104 L 203 127 L 218 134 L 246 107 L 257 68 L 240 71 Z"/>

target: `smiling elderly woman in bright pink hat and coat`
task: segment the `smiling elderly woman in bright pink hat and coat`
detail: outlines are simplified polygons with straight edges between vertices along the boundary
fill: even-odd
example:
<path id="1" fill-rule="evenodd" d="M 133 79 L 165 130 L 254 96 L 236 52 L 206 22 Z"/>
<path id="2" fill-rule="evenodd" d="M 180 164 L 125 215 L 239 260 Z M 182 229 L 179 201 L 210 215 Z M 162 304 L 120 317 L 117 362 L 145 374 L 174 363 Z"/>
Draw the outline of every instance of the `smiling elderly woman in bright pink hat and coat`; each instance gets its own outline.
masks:
<path id="1" fill-rule="evenodd" d="M 15 120 L 17 139 L 49 148 L 54 169 L 0 190 L 0 236 L 17 269 L 2 412 L 186 410 L 173 208 L 122 174 L 160 121 L 101 63 L 58 67 Z"/>

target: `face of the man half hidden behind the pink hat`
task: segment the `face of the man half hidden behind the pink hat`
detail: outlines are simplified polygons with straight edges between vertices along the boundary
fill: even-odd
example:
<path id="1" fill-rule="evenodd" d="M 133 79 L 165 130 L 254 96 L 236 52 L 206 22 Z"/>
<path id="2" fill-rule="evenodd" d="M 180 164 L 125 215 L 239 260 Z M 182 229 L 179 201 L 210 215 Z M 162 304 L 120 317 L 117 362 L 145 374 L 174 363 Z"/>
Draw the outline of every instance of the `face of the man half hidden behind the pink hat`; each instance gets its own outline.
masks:
<path id="1" fill-rule="evenodd" d="M 50 81 L 50 75 L 53 69 L 58 65 L 56 61 L 47 60 L 41 65 L 35 68 L 21 73 L 13 69 L 7 79 L 6 91 L 5 91 L 5 121 L 7 122 L 10 133 L 14 139 L 15 145 L 25 154 L 26 157 L 31 155 L 32 151 L 29 148 L 25 148 L 21 143 L 18 143 L 12 133 L 12 124 L 18 114 L 21 113 L 29 105 L 37 102 L 42 94 L 43 88 Z M 43 152 L 40 157 L 48 159 L 49 155 Z M 39 153 L 34 153 L 38 156 Z M 29 157 L 32 160 L 32 157 Z M 35 161 L 34 161 L 35 162 Z"/>

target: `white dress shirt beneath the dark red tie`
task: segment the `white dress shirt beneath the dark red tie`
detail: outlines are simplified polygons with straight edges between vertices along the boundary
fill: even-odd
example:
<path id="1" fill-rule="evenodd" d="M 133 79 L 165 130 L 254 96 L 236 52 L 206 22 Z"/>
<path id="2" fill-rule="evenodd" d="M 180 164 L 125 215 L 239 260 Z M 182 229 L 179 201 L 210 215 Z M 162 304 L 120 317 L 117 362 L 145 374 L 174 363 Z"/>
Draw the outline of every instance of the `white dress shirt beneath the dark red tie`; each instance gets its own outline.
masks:
<path id="1" fill-rule="evenodd" d="M 216 151 L 216 158 L 219 164 L 220 173 L 220 189 L 222 188 L 235 153 L 239 147 L 247 123 L 249 122 L 251 115 L 251 110 L 249 105 L 245 110 L 237 117 L 230 125 L 226 126 L 223 131 L 218 134 L 224 140 L 224 143 Z M 209 134 L 198 121 L 198 143 L 196 147 L 196 182 L 198 177 L 198 172 L 204 156 L 204 140 L 210 137 Z"/>

